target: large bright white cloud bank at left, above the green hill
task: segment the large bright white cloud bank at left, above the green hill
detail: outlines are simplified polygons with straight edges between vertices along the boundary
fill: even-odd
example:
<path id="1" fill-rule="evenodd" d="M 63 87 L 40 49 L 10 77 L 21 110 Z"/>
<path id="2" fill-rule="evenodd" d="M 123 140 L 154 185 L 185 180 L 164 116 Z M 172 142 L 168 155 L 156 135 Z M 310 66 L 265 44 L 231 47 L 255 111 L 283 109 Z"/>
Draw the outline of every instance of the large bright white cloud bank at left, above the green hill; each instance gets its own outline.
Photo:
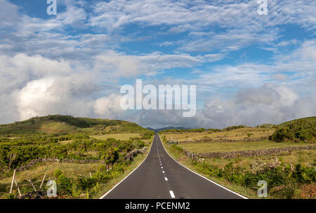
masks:
<path id="1" fill-rule="evenodd" d="M 119 113 L 117 98 L 103 91 L 96 76 L 74 72 L 70 62 L 39 55 L 0 56 L 0 121 L 9 123 L 47 114 L 102 116 Z M 110 104 L 112 103 L 112 104 Z"/>

